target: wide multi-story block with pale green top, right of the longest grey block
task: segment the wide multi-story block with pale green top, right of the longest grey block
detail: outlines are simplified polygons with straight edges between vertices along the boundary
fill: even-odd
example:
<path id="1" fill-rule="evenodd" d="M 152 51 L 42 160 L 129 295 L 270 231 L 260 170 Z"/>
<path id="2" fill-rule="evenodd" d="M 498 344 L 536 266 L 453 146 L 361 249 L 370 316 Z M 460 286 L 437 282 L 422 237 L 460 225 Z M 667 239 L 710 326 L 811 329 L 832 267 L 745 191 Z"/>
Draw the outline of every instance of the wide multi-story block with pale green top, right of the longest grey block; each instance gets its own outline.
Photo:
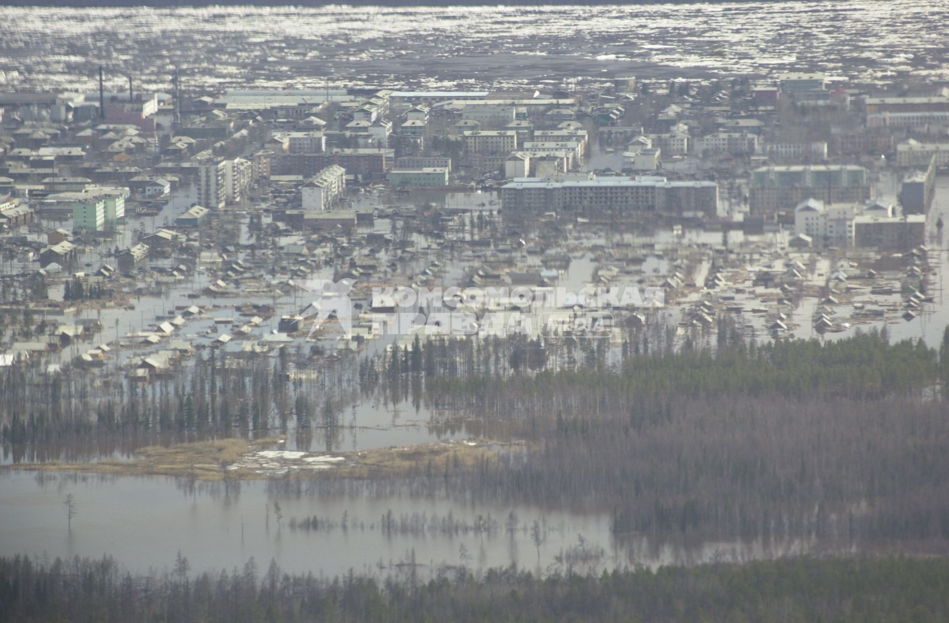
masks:
<path id="1" fill-rule="evenodd" d="M 866 169 L 853 164 L 765 166 L 755 169 L 750 190 L 753 215 L 790 211 L 809 198 L 825 203 L 864 203 L 871 186 Z"/>

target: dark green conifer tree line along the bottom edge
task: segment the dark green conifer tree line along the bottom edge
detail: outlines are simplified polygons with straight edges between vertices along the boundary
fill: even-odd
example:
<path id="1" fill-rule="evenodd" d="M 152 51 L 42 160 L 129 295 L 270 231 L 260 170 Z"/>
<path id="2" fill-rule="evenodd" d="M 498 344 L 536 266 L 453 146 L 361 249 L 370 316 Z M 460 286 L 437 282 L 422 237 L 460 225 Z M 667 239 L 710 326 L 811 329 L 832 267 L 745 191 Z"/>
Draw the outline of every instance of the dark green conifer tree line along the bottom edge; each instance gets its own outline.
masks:
<path id="1" fill-rule="evenodd" d="M 111 557 L 0 557 L 0 621 L 163 623 L 936 623 L 949 616 L 945 557 L 801 557 L 539 577 L 515 567 L 474 576 L 323 578 L 276 563 L 192 574 L 180 554 L 161 576 Z"/>

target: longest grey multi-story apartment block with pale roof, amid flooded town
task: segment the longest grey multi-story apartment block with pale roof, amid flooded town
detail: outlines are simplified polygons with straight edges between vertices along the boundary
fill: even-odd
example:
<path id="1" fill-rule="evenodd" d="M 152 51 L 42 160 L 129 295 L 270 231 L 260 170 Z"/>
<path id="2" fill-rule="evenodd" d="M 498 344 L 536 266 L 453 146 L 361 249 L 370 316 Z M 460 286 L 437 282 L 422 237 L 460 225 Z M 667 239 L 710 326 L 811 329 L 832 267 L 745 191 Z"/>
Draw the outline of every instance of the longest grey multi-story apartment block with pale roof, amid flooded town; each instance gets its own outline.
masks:
<path id="1" fill-rule="evenodd" d="M 504 210 L 603 210 L 716 215 L 718 185 L 714 181 L 668 181 L 661 177 L 517 179 L 501 187 Z"/>

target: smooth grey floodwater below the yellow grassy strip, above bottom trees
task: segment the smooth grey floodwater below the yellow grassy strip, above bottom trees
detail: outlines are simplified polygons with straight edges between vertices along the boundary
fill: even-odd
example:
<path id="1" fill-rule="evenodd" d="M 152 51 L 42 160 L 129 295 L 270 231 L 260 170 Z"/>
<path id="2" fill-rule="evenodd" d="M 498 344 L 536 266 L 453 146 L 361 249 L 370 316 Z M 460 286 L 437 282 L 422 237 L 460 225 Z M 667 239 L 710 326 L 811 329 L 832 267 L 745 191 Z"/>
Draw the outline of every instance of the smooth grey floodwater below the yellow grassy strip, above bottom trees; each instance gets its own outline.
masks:
<path id="1" fill-rule="evenodd" d="M 230 490 L 221 483 L 198 483 L 191 491 L 165 478 L 2 471 L 0 491 L 0 555 L 109 554 L 134 574 L 169 569 L 178 551 L 196 571 L 242 567 L 253 557 L 258 567 L 266 568 L 273 559 L 285 571 L 318 576 L 350 569 L 404 575 L 414 553 L 417 575 L 424 578 L 457 565 L 470 571 L 515 564 L 543 572 L 568 566 L 586 572 L 799 555 L 816 546 L 804 540 L 690 547 L 656 538 L 618 541 L 610 532 L 608 513 L 403 496 L 305 493 L 288 498 L 271 493 L 265 481 L 232 484 Z M 67 494 L 78 509 L 71 528 L 65 515 Z M 282 515 L 279 522 L 274 501 Z M 514 519 L 509 519 L 511 513 Z M 314 516 L 326 523 L 324 529 L 299 527 L 301 519 Z M 539 538 L 532 530 L 535 521 Z"/>

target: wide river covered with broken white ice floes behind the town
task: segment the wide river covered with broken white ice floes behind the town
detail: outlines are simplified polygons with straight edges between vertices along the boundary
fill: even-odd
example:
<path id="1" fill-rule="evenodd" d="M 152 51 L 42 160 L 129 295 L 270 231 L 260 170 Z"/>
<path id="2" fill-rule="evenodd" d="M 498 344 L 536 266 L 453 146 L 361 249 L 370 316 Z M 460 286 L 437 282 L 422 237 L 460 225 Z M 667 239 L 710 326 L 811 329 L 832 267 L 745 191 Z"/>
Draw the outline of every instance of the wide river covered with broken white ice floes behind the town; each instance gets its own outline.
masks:
<path id="1" fill-rule="evenodd" d="M 0 8 L 0 87 L 567 87 L 577 76 L 824 70 L 947 76 L 949 6 L 736 2 L 550 7 Z M 517 36 L 512 37 L 516 32 Z M 907 32 L 913 33 L 906 36 Z M 804 33 L 798 35 L 796 33 Z M 94 51 L 89 51 L 94 50 Z M 121 75 L 115 75 L 121 73 Z"/>

